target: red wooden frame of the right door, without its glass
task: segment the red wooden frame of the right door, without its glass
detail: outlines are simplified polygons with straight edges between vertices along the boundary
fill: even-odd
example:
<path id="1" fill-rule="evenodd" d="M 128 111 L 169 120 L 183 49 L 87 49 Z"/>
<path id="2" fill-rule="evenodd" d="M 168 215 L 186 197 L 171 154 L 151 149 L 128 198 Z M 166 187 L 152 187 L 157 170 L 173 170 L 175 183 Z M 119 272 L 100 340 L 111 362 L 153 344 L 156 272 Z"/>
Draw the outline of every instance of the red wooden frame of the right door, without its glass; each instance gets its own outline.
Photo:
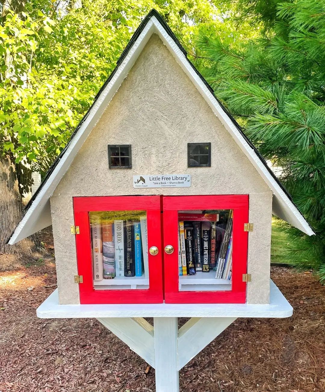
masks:
<path id="1" fill-rule="evenodd" d="M 178 211 L 233 209 L 233 269 L 231 291 L 182 291 L 178 286 Z M 164 299 L 166 303 L 245 303 L 246 283 L 242 275 L 247 271 L 248 195 L 164 196 L 164 242 L 172 245 L 172 254 L 164 253 Z"/>

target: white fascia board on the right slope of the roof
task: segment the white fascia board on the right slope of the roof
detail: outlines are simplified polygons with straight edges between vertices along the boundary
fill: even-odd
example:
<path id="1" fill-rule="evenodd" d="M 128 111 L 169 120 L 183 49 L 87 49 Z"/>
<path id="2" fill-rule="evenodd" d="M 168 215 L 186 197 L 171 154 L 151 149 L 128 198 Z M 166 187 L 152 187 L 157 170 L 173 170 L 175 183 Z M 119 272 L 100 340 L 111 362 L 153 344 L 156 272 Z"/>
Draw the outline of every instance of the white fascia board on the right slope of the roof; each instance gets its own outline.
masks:
<path id="1" fill-rule="evenodd" d="M 167 33 L 161 23 L 157 20 L 157 18 L 155 18 L 155 16 L 153 16 L 151 20 L 157 27 L 157 30 L 159 31 L 158 35 L 161 38 L 162 42 L 164 42 L 166 47 L 168 47 L 169 51 L 173 54 L 178 64 L 181 65 L 183 71 L 188 75 L 197 90 L 211 107 L 213 113 L 215 113 L 215 115 L 222 122 L 227 131 L 230 132 L 231 136 L 233 136 L 238 146 L 242 149 L 242 151 L 247 156 L 249 161 L 254 165 L 260 176 L 262 176 L 264 181 L 273 191 L 273 194 L 276 199 L 276 203 L 274 203 L 273 207 L 273 214 L 287 221 L 292 226 L 308 234 L 309 236 L 315 234 L 309 226 L 308 222 L 300 213 L 300 211 L 298 211 L 296 206 L 288 198 L 285 192 L 283 192 L 277 181 L 274 180 L 274 178 L 271 176 L 263 162 L 261 162 L 260 157 L 247 143 L 244 136 L 238 131 L 227 113 L 220 106 L 213 94 L 211 94 L 211 91 L 209 91 L 208 87 L 202 82 L 202 79 L 191 67 L 188 62 L 188 59 L 186 58 L 186 56 L 184 56 L 184 53 L 182 53 L 175 41 L 170 37 L 170 35 Z"/>

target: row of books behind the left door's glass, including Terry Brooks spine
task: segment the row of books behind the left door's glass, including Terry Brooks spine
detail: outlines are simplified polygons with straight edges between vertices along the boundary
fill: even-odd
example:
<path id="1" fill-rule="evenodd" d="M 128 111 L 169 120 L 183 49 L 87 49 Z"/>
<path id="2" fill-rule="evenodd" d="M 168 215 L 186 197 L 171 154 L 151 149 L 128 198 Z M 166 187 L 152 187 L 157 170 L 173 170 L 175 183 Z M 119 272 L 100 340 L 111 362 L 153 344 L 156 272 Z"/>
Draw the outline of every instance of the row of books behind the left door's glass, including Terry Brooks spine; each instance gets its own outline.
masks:
<path id="1" fill-rule="evenodd" d="M 137 220 L 92 221 L 94 280 L 149 277 L 146 216 Z"/>

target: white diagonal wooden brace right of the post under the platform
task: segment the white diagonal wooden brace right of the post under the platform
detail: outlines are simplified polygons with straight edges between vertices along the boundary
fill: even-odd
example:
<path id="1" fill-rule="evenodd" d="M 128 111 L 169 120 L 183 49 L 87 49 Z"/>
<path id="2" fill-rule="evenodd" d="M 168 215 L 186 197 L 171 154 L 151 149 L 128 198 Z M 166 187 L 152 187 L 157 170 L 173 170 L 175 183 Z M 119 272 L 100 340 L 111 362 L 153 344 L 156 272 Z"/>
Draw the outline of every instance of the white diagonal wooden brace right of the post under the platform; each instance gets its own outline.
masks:
<path id="1" fill-rule="evenodd" d="M 178 333 L 178 370 L 224 331 L 236 317 L 193 317 Z"/>

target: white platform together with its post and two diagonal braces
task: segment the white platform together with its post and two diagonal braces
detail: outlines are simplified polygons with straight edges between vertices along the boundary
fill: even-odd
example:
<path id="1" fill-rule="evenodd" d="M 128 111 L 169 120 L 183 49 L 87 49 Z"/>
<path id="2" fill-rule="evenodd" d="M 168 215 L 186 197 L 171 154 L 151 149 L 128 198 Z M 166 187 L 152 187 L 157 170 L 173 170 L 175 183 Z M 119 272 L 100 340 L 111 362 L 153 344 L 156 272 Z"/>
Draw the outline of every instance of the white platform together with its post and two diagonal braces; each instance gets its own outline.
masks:
<path id="1" fill-rule="evenodd" d="M 40 318 L 97 318 L 150 366 L 156 392 L 179 392 L 179 370 L 238 317 L 283 318 L 292 307 L 271 281 L 270 304 L 59 305 L 55 290 Z M 143 317 L 153 317 L 153 327 Z M 191 317 L 178 329 L 179 317 Z"/>

